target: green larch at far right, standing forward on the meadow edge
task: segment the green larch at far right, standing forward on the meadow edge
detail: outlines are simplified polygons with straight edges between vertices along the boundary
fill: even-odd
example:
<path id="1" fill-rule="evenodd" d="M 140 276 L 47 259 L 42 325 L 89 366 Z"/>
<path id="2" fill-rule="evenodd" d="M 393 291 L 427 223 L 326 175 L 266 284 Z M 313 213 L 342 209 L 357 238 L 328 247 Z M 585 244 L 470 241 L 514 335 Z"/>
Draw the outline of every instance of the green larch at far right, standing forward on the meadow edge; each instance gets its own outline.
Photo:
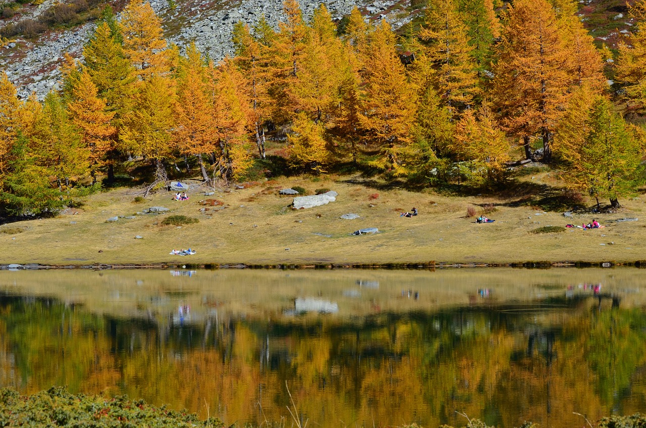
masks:
<path id="1" fill-rule="evenodd" d="M 564 178 L 570 187 L 596 198 L 608 198 L 619 208 L 619 198 L 630 195 L 643 178 L 640 169 L 643 141 L 632 125 L 613 111 L 607 98 L 596 96 L 578 138 L 567 147 Z M 577 155 L 579 153 L 579 155 Z"/>

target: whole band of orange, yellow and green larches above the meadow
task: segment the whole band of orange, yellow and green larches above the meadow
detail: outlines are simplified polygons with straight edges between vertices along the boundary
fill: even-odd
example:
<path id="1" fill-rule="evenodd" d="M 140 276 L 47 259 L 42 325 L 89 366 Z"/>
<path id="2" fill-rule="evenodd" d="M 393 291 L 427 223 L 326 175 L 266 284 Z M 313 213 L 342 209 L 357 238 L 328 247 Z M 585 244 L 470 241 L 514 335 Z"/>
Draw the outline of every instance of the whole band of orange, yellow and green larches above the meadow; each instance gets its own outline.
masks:
<path id="1" fill-rule="evenodd" d="M 1 195 L 13 200 L 17 183 L 37 175 L 65 201 L 79 184 L 110 182 L 127 159 L 147 162 L 156 183 L 169 164 L 229 183 L 267 162 L 275 137 L 274 153 L 293 171 L 349 163 L 491 188 L 505 186 L 518 146 L 562 167 L 570 187 L 618 205 L 637 183 L 644 133 L 607 104 L 601 54 L 577 5 L 430 0 L 421 29 L 398 37 L 357 8 L 340 32 L 324 5 L 304 17 L 286 0 L 278 28 L 238 23 L 235 56 L 215 63 L 195 45 L 169 47 L 149 3 L 132 0 L 119 22 L 104 14 L 44 102 L 18 100 L 0 76 Z M 645 11 L 643 1 L 632 6 L 636 31 L 613 70 L 621 102 L 637 114 L 646 106 Z M 615 130 L 605 145 L 603 129 Z M 599 152 L 625 158 L 623 169 L 599 169 L 605 161 L 589 161 Z"/>

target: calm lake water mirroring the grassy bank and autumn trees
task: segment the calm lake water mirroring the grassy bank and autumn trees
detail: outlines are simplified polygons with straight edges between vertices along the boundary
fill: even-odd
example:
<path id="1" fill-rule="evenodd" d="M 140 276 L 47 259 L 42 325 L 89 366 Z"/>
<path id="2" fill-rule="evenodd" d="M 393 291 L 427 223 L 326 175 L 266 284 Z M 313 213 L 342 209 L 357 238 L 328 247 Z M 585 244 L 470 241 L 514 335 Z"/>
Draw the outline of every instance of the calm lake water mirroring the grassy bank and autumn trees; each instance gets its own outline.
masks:
<path id="1" fill-rule="evenodd" d="M 0 272 L 0 387 L 52 385 L 238 426 L 581 427 L 646 411 L 646 271 Z"/>

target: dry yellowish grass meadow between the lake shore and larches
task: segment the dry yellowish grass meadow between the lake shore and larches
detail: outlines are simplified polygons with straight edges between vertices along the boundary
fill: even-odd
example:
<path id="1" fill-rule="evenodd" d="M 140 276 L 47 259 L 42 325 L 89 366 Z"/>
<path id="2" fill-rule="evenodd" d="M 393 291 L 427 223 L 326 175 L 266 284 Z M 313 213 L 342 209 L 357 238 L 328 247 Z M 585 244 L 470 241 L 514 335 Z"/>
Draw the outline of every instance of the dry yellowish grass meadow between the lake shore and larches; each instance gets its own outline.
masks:
<path id="1" fill-rule="evenodd" d="M 528 177 L 530 179 L 531 177 Z M 536 178 L 535 178 L 536 180 Z M 455 197 L 430 192 L 410 192 L 357 186 L 349 177 L 322 178 L 316 187 L 339 193 L 336 202 L 315 209 L 293 211 L 291 198 L 279 197 L 275 187 L 311 186 L 307 178 L 282 178 L 245 189 L 216 189 L 211 198 L 221 200 L 226 209 L 200 211 L 203 195 L 197 190 L 190 199 L 173 201 L 172 193 L 159 192 L 152 200 L 138 204 L 171 208 L 167 215 L 137 215 L 105 223 L 115 215 L 133 211 L 130 189 L 117 189 L 93 195 L 84 211 L 6 225 L 25 229 L 18 235 L 0 233 L 5 248 L 0 262 L 39 262 L 43 264 L 92 263 L 404 263 L 404 262 L 522 262 L 522 261 L 636 261 L 643 259 L 646 228 L 642 222 L 612 223 L 621 217 L 643 217 L 641 200 L 621 200 L 621 213 L 595 215 L 607 228 L 568 230 L 564 233 L 533 235 L 542 226 L 565 226 L 592 220 L 591 215 L 575 219 L 562 211 L 517 206 L 517 198 Z M 202 189 L 204 189 L 202 187 Z M 379 199 L 370 195 L 379 191 Z M 253 200 L 247 202 L 251 195 Z M 475 224 L 464 218 L 465 204 L 495 204 L 493 224 Z M 591 201 L 588 201 L 591 205 Z M 397 208 L 418 207 L 419 215 L 399 217 Z M 356 213 L 360 219 L 342 220 L 340 215 Z M 320 214 L 317 218 L 316 214 Z M 537 215 L 538 214 L 538 215 Z M 162 228 L 164 217 L 198 217 L 189 227 Z M 375 235 L 350 235 L 360 228 L 376 227 Z M 144 239 L 134 239 L 136 235 Z M 605 236 L 601 236 L 605 235 Z M 601 245 L 615 242 L 614 245 Z M 173 248 L 193 248 L 189 257 L 169 255 Z M 289 248 L 289 250 L 286 250 Z M 99 253 L 99 250 L 101 251 Z"/>

